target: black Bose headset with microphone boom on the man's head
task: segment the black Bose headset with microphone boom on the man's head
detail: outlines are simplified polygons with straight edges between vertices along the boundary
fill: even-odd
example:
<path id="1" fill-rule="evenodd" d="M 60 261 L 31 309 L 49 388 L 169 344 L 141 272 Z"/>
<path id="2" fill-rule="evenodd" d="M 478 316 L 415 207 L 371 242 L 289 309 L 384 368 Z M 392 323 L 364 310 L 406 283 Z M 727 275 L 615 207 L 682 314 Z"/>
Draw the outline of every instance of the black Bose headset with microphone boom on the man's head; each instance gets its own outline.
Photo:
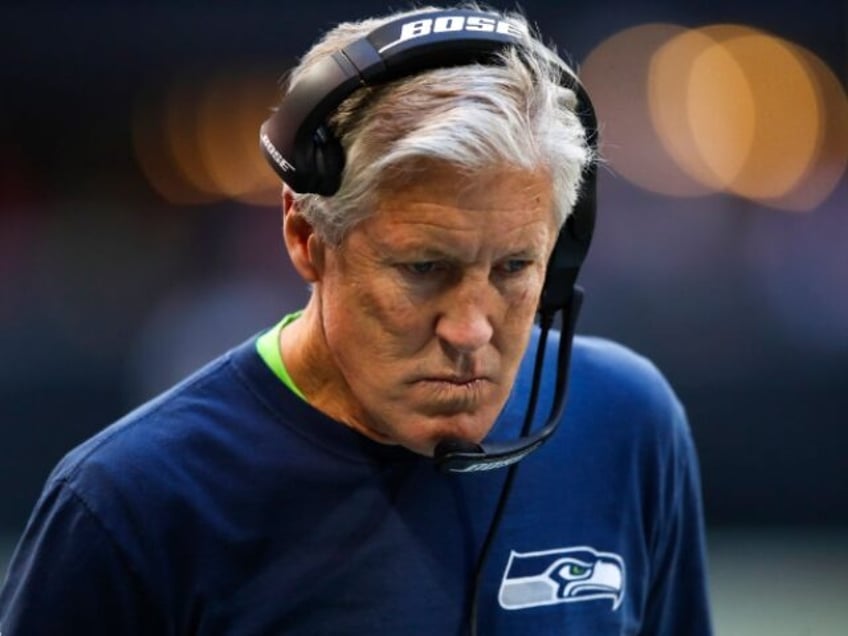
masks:
<path id="1" fill-rule="evenodd" d="M 362 86 L 430 69 L 496 63 L 497 52 L 515 45 L 521 35 L 513 22 L 496 14 L 463 9 L 415 13 L 389 22 L 318 61 L 299 78 L 262 124 L 260 148 L 295 192 L 330 196 L 341 184 L 345 154 L 327 119 L 345 98 Z M 577 95 L 576 113 L 594 153 L 598 126 L 589 96 L 570 73 L 563 72 L 561 82 Z M 506 443 L 442 440 L 434 456 L 442 470 L 474 472 L 509 466 L 541 446 L 559 425 L 565 409 L 571 341 L 583 296 L 575 282 L 595 225 L 595 184 L 592 161 L 585 168 L 577 203 L 548 261 L 539 303 L 542 330 L 522 436 Z M 547 334 L 557 312 L 563 316 L 554 403 L 545 426 L 531 435 Z"/>

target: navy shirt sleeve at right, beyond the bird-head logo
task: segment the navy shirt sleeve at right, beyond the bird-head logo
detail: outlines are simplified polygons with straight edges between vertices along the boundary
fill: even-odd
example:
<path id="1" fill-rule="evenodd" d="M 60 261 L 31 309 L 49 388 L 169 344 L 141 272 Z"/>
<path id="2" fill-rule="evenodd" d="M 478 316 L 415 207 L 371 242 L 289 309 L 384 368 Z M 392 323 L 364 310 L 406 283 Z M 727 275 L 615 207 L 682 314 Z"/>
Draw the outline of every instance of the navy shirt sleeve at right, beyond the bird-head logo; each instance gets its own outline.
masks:
<path id="1" fill-rule="evenodd" d="M 708 636 L 707 555 L 700 472 L 683 408 L 677 404 L 669 459 L 671 493 L 652 554 L 643 634 Z"/>

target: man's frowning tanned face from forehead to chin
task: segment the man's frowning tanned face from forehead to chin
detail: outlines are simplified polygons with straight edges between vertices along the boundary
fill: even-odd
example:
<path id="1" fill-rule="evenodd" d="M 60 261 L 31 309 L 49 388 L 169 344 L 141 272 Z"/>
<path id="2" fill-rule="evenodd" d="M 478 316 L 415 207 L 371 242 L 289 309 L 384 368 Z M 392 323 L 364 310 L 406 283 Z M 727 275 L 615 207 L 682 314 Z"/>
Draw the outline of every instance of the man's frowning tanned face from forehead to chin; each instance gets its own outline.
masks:
<path id="1" fill-rule="evenodd" d="M 295 381 L 368 437 L 432 455 L 441 438 L 479 442 L 494 424 L 557 227 L 543 173 L 421 177 L 384 188 L 340 246 L 321 247 Z"/>

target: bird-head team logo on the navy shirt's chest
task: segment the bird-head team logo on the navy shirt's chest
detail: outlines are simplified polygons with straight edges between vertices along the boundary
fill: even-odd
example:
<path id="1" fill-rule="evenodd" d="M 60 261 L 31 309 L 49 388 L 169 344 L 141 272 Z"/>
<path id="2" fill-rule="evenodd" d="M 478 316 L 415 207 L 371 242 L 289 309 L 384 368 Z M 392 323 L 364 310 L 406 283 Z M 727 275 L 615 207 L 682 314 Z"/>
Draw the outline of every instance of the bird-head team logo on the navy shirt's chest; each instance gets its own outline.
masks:
<path id="1" fill-rule="evenodd" d="M 624 599 L 624 560 L 588 546 L 510 552 L 498 602 L 508 610 L 608 599 L 617 610 Z"/>

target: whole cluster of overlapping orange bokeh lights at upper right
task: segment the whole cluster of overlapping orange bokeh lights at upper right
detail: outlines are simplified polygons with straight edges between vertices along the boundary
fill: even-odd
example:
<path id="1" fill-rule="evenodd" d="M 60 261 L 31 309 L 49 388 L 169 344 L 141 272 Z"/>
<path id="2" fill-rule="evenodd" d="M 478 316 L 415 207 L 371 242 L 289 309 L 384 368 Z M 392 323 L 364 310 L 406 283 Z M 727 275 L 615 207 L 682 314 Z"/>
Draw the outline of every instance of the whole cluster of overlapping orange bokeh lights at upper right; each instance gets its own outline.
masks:
<path id="1" fill-rule="evenodd" d="M 743 25 L 646 24 L 602 42 L 584 81 L 612 168 L 671 196 L 812 210 L 848 162 L 848 102 L 810 51 Z"/>

